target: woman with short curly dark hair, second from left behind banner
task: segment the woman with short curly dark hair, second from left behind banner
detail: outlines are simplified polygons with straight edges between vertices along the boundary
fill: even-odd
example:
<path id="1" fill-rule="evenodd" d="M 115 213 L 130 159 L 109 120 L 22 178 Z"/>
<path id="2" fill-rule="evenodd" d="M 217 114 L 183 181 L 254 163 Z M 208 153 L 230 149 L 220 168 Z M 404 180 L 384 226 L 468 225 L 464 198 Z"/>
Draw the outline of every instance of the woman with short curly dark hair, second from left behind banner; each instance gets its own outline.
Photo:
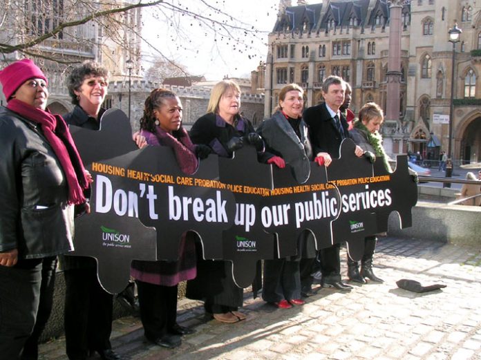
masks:
<path id="1" fill-rule="evenodd" d="M 67 124 L 99 130 L 108 86 L 109 71 L 102 65 L 86 61 L 73 68 L 67 87 L 75 107 L 64 115 Z M 137 143 L 142 145 L 140 136 Z M 68 359 L 86 359 L 93 352 L 105 360 L 122 359 L 110 342 L 113 295 L 98 281 L 95 258 L 64 256 L 61 265 L 66 285 L 64 325 Z"/>

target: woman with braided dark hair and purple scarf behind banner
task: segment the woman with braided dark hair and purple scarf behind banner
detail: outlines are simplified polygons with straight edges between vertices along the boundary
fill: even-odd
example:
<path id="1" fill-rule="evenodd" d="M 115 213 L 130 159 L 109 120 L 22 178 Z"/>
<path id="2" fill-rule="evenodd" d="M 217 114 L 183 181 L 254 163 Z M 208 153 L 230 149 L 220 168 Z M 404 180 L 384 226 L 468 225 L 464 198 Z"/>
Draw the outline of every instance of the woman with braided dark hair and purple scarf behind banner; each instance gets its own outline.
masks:
<path id="1" fill-rule="evenodd" d="M 197 170 L 195 146 L 182 127 L 182 104 L 175 93 L 164 88 L 151 91 L 145 100 L 140 129 L 147 144 L 169 146 L 184 173 L 191 175 Z M 165 348 L 175 348 L 181 343 L 181 335 L 194 333 L 176 321 L 178 283 L 196 277 L 194 239 L 184 234 L 179 248 L 176 261 L 135 260 L 131 267 L 138 287 L 144 335 Z"/>

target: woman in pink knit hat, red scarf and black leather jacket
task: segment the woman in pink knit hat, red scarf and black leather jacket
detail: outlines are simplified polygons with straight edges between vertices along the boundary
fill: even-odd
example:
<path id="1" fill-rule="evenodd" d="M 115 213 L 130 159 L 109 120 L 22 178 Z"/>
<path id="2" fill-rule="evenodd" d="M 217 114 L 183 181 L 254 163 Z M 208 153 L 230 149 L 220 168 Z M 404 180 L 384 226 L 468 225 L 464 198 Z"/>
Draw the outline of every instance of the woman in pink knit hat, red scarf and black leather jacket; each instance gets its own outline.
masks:
<path id="1" fill-rule="evenodd" d="M 0 82 L 0 354 L 36 359 L 22 348 L 34 331 L 36 350 L 57 255 L 73 249 L 72 205 L 85 202 L 91 178 L 64 119 L 46 111 L 44 73 L 23 59 L 1 70 Z"/>

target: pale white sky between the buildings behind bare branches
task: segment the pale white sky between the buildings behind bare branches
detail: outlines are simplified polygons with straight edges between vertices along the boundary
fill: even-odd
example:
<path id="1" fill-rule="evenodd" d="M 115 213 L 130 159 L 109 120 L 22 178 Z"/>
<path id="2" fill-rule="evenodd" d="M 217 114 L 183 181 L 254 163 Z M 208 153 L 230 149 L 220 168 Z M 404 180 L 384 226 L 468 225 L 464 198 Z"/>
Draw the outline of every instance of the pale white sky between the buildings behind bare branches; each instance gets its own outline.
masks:
<path id="1" fill-rule="evenodd" d="M 171 0 L 169 3 L 198 16 L 194 18 L 185 11 L 181 15 L 179 10 L 172 11 L 167 6 L 161 10 L 143 10 L 142 36 L 151 44 L 142 45 L 144 68 L 151 66 L 154 57 L 164 55 L 184 66 L 191 75 L 220 80 L 225 75 L 250 77 L 259 61 L 266 61 L 267 35 L 274 28 L 279 0 Z M 210 19 L 220 21 L 225 29 L 218 24 L 214 26 Z"/>

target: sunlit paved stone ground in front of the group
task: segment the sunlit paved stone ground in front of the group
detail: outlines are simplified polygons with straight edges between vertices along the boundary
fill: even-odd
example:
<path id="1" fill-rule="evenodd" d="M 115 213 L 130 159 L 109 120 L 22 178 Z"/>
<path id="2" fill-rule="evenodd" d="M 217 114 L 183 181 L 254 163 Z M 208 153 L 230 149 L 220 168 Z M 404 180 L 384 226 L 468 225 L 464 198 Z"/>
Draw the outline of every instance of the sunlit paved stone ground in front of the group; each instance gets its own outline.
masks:
<path id="1" fill-rule="evenodd" d="M 231 325 L 207 319 L 201 303 L 183 299 L 178 320 L 197 332 L 174 350 L 145 343 L 140 321 L 125 317 L 113 325 L 113 347 L 145 360 L 481 359 L 481 246 L 381 238 L 375 264 L 385 283 L 355 285 L 347 294 L 321 289 L 289 310 L 246 292 L 249 317 Z M 399 289 L 401 278 L 447 287 L 417 294 Z M 64 360 L 64 351 L 61 337 L 41 345 L 41 359 Z"/>

